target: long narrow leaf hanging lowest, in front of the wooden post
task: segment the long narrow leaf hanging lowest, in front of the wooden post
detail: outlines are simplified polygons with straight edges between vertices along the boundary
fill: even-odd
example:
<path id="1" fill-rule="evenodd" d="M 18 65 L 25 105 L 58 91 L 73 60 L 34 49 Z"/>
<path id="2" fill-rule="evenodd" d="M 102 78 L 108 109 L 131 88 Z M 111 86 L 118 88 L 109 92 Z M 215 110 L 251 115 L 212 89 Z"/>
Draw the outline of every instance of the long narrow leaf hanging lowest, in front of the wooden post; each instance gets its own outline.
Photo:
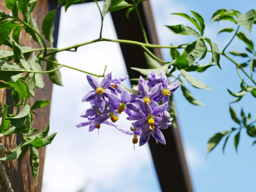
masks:
<path id="1" fill-rule="evenodd" d="M 39 175 L 39 153 L 35 147 L 30 146 L 30 166 L 32 169 L 32 175 L 35 178 L 35 185 L 37 186 Z"/>

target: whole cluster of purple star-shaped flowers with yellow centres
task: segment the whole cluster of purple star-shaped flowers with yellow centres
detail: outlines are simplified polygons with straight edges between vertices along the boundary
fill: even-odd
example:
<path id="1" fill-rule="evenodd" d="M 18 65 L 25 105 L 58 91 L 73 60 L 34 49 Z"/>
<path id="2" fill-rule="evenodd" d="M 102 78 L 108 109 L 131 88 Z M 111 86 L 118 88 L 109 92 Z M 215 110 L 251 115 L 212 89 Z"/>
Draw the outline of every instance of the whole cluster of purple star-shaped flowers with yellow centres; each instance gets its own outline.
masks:
<path id="1" fill-rule="evenodd" d="M 85 110 L 81 117 L 88 121 L 77 124 L 76 127 L 89 125 L 89 132 L 100 129 L 101 124 L 116 127 L 119 131 L 133 135 L 133 144 L 139 146 L 148 142 L 152 135 L 156 141 L 165 144 L 165 138 L 160 129 L 167 129 L 171 125 L 170 100 L 171 93 L 176 91 L 180 82 L 168 85 L 164 71 L 160 75 L 152 72 L 145 81 L 139 78 L 139 88 L 133 88 L 130 93 L 120 83 L 122 79 L 112 79 L 111 73 L 107 74 L 101 83 L 93 76 L 87 75 L 87 80 L 94 89 L 87 93 L 82 102 L 90 102 L 91 108 Z M 139 93 L 139 94 L 138 94 Z M 120 95 L 120 97 L 119 97 Z M 160 101 L 162 101 L 160 105 Z M 126 119 L 133 121 L 130 130 L 125 130 L 118 125 L 121 113 L 126 113 Z"/>

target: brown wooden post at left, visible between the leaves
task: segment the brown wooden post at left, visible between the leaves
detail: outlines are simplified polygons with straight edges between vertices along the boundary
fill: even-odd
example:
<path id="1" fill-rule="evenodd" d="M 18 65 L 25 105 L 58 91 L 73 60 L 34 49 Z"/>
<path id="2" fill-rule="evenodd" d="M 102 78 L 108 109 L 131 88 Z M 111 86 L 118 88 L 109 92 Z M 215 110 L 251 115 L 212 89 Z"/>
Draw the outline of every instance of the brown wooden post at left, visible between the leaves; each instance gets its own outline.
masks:
<path id="1" fill-rule="evenodd" d="M 5 0 L 0 0 L 0 9 L 7 14 L 11 14 L 11 11 L 5 6 Z M 45 15 L 48 13 L 48 1 L 47 0 L 39 0 L 36 4 L 36 7 L 33 11 L 33 17 L 36 20 L 39 29 L 41 29 L 42 26 L 42 20 L 45 17 Z M 19 14 L 19 18 L 23 18 L 21 14 Z M 32 37 L 25 33 L 24 30 L 20 33 L 20 44 L 30 46 L 33 48 L 39 48 L 39 45 L 37 42 L 34 42 Z M 49 44 L 48 44 L 49 46 Z M 2 50 L 11 50 L 8 46 L 2 45 L 0 47 Z M 31 57 L 33 57 L 36 54 L 31 54 Z M 43 64 L 43 70 L 45 70 L 46 65 Z M 30 98 L 28 101 L 29 103 L 33 104 L 34 101 L 37 99 L 45 99 L 45 100 L 51 100 L 52 97 L 52 82 L 50 82 L 47 74 L 43 74 L 44 82 L 45 82 L 45 91 L 36 88 L 35 89 L 35 98 Z M 0 89 L 0 104 L 2 107 L 2 104 L 12 104 L 11 99 L 11 91 L 10 90 L 4 90 Z M 8 113 L 11 113 L 12 109 L 10 108 L 10 111 Z M 19 109 L 20 110 L 20 109 Z M 18 110 L 18 111 L 19 111 Z M 32 128 L 39 129 L 39 131 L 42 131 L 48 124 L 49 121 L 49 114 L 50 114 L 50 105 L 36 110 L 37 116 L 33 115 L 33 123 Z M 9 137 L 2 138 L 1 143 L 5 145 L 6 150 L 14 149 L 18 144 L 20 144 L 21 141 L 20 135 L 10 135 Z M 42 188 L 42 176 L 43 176 L 43 167 L 44 167 L 44 158 L 45 158 L 45 147 L 42 147 L 39 149 L 39 157 L 40 157 L 40 170 L 39 170 L 39 178 L 38 178 L 38 185 L 35 187 L 34 178 L 31 172 L 30 167 L 30 152 L 28 150 L 27 154 L 23 157 L 22 162 L 19 164 L 18 160 L 12 160 L 12 161 L 6 161 L 2 162 L 7 170 L 7 175 L 10 179 L 12 188 L 14 192 L 40 192 Z"/>

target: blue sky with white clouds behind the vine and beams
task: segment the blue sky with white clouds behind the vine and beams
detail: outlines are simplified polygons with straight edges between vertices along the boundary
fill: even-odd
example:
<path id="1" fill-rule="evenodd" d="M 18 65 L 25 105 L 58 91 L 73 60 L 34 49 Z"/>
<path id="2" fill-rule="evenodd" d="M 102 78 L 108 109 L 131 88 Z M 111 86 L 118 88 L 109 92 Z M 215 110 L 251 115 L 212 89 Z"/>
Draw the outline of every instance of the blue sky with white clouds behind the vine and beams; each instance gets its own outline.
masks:
<path id="1" fill-rule="evenodd" d="M 161 44 L 178 45 L 194 41 L 194 37 L 173 35 L 163 25 L 184 24 L 193 27 L 186 19 L 170 14 L 180 12 L 192 16 L 190 11 L 195 11 L 205 19 L 204 36 L 216 42 L 220 50 L 229 42 L 232 34 L 223 33 L 217 36 L 217 32 L 223 27 L 234 25 L 229 21 L 221 21 L 219 25 L 210 23 L 212 14 L 221 8 L 236 9 L 242 13 L 252 9 L 252 1 L 249 0 L 150 2 Z M 96 39 L 99 29 L 100 17 L 95 4 L 72 6 L 66 14 L 61 14 L 58 47 Z M 241 30 L 245 31 L 242 28 Z M 254 42 L 255 32 L 254 27 L 250 36 Z M 105 18 L 103 36 L 117 38 L 110 15 Z M 235 39 L 227 51 L 244 51 L 244 48 L 244 43 Z M 163 55 L 165 60 L 170 60 L 168 49 L 163 50 Z M 127 74 L 120 47 L 116 43 L 99 42 L 81 47 L 76 53 L 60 53 L 57 57 L 60 63 L 93 73 L 101 74 L 103 66 L 108 64 L 108 72 L 112 71 L 113 77 L 120 78 Z M 211 55 L 208 54 L 200 64 L 207 64 L 210 58 Z M 235 59 L 242 62 L 239 58 Z M 180 89 L 174 94 L 193 188 L 196 192 L 255 191 L 256 186 L 251 184 L 254 183 L 252 167 L 255 166 L 255 147 L 251 147 L 253 140 L 245 132 L 242 132 L 240 137 L 239 154 L 235 152 L 231 137 L 225 155 L 222 154 L 221 142 L 220 146 L 210 153 L 207 159 L 205 158 L 207 141 L 211 135 L 236 126 L 230 118 L 228 105 L 235 98 L 230 96 L 226 89 L 240 91 L 240 79 L 233 63 L 221 57 L 220 64 L 222 70 L 212 67 L 205 73 L 191 73 L 195 78 L 211 85 L 212 91 L 196 89 L 186 83 L 195 98 L 209 107 L 190 104 Z M 86 82 L 85 74 L 64 68 L 61 69 L 61 73 L 64 87 L 54 85 L 50 114 L 51 131 L 57 131 L 58 135 L 51 146 L 46 148 L 43 191 L 75 192 L 83 187 L 86 181 L 89 181 L 90 192 L 161 191 L 147 145 L 136 146 L 136 150 L 133 151 L 132 137 L 121 134 L 114 128 L 102 126 L 98 135 L 96 132 L 89 133 L 87 127 L 74 127 L 83 121 L 79 115 L 89 105 L 80 101 L 91 88 Z M 126 81 L 126 85 L 130 86 L 129 81 Z M 252 108 L 254 104 L 255 99 L 248 95 L 239 103 L 233 104 L 233 108 L 240 113 L 243 106 L 246 114 L 251 112 L 255 117 L 256 111 Z M 120 125 L 127 126 L 125 117 L 120 119 Z M 67 169 L 63 169 L 64 167 Z M 66 182 L 69 184 L 64 186 L 63 183 Z"/>

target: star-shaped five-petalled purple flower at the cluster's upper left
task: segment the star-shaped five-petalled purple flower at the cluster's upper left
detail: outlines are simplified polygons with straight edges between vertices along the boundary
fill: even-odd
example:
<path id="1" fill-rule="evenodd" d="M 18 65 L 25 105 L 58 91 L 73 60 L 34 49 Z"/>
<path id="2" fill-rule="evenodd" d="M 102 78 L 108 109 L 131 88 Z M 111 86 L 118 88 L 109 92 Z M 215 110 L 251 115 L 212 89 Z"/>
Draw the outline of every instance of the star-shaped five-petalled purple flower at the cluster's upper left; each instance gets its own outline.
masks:
<path id="1" fill-rule="evenodd" d="M 87 93 L 82 99 L 82 102 L 92 101 L 96 99 L 99 110 L 103 112 L 106 103 L 105 97 L 108 99 L 120 101 L 117 95 L 115 95 L 113 91 L 108 89 L 111 83 L 111 79 L 111 73 L 108 73 L 102 79 L 101 83 L 99 83 L 98 80 L 94 77 L 87 75 L 87 80 L 94 90 Z"/>

